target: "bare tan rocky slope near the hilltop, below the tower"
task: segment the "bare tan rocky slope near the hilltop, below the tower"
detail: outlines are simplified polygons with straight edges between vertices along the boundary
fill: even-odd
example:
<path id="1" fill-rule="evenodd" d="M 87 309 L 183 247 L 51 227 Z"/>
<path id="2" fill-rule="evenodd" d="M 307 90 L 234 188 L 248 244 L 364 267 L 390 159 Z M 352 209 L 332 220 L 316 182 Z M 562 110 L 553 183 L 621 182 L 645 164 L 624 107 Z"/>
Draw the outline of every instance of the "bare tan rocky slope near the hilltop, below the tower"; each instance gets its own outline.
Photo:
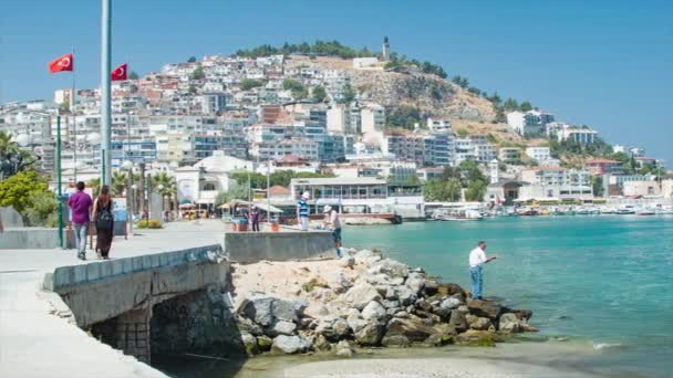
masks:
<path id="1" fill-rule="evenodd" d="M 345 71 L 362 98 L 386 108 L 417 108 L 423 117 L 451 119 L 458 134 L 490 134 L 498 145 L 536 143 L 524 140 L 506 124 L 494 123 L 496 113 L 488 99 L 436 75 L 384 71 L 383 65 L 354 69 L 352 60 L 338 56 L 290 55 L 286 64 L 288 67 L 318 65 Z"/>

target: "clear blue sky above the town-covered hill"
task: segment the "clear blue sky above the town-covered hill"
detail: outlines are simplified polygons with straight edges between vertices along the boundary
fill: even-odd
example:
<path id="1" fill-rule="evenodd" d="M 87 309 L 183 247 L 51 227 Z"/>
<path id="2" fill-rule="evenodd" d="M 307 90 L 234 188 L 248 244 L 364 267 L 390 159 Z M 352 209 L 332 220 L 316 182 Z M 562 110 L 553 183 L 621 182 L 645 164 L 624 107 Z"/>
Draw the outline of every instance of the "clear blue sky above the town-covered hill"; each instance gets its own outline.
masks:
<path id="1" fill-rule="evenodd" d="M 113 66 L 144 74 L 317 39 L 380 51 L 387 35 L 392 51 L 673 166 L 673 1 L 111 1 Z M 77 87 L 97 86 L 100 18 L 94 0 L 3 4 L 0 103 L 69 87 L 70 74 L 49 75 L 46 63 L 73 48 Z"/>

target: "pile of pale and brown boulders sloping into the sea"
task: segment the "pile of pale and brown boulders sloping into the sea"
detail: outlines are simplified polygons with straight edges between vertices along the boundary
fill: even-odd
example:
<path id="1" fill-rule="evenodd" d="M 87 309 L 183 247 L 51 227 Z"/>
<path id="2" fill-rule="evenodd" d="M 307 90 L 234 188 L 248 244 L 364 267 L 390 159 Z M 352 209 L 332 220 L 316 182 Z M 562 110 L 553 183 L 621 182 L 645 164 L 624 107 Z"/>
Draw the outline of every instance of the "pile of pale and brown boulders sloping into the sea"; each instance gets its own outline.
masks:
<path id="1" fill-rule="evenodd" d="M 310 263 L 304 263 L 299 271 L 306 275 L 281 283 L 291 296 L 237 292 L 235 316 L 249 355 L 350 356 L 358 347 L 494 346 L 512 334 L 537 330 L 528 323 L 528 309 L 472 300 L 457 284 L 438 282 L 422 269 L 373 251 L 349 250 L 339 261 L 319 263 L 330 277 L 308 274 Z"/>

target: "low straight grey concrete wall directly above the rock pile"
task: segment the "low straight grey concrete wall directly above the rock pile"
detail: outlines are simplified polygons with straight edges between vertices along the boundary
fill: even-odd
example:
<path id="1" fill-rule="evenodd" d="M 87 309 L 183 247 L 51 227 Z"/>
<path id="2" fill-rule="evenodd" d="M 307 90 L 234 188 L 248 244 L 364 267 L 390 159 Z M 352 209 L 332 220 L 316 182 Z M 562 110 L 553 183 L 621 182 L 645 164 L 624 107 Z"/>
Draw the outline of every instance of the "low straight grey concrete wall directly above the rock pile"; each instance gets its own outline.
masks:
<path id="1" fill-rule="evenodd" d="M 329 231 L 228 232 L 225 233 L 224 245 L 229 260 L 240 263 L 324 259 L 336 255 L 334 240 Z"/>

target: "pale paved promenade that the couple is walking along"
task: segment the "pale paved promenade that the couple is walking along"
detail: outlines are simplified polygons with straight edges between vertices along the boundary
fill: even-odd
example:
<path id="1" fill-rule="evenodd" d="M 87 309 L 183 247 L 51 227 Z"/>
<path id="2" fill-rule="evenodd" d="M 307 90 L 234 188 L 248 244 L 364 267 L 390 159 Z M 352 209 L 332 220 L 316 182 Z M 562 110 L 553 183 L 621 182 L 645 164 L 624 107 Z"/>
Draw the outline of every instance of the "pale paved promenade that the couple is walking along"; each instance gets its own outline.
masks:
<path id="1" fill-rule="evenodd" d="M 221 242 L 219 220 L 176 222 L 115 238 L 111 259 L 131 258 Z M 0 233 L 1 238 L 1 233 Z M 97 262 L 74 250 L 0 250 L 0 377 L 164 377 L 161 371 L 99 343 L 59 317 L 41 294 L 44 274 L 64 265 Z"/>

